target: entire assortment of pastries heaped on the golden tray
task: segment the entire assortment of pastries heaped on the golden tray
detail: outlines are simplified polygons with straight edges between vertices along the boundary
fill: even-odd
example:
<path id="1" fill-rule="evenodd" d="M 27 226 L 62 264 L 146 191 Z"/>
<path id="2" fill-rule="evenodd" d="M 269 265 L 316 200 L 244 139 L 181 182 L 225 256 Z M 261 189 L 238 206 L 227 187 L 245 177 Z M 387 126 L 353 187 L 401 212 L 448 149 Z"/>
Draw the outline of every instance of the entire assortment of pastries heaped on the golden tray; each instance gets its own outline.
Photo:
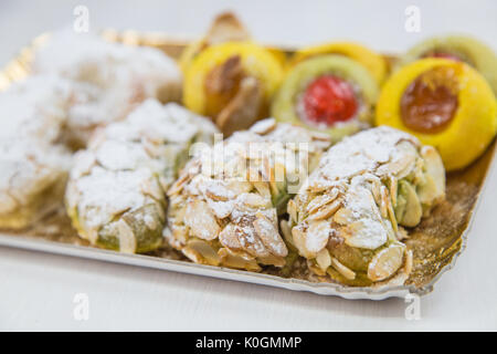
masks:
<path id="1" fill-rule="evenodd" d="M 288 54 L 222 14 L 178 62 L 61 31 L 30 66 L 0 93 L 0 229 L 63 207 L 96 247 L 248 271 L 299 259 L 352 287 L 405 282 L 403 241 L 445 171 L 497 132 L 497 59 L 463 37 L 396 61 L 348 42 Z"/>

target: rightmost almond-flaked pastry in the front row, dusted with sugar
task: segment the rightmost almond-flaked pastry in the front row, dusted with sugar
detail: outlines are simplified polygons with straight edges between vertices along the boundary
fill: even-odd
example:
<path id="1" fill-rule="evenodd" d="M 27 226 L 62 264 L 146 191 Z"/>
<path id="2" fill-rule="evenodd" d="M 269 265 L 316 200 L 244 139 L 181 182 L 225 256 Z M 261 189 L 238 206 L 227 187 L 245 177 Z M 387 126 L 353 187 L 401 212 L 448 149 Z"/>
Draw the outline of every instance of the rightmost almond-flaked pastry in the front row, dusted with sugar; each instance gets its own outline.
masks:
<path id="1" fill-rule="evenodd" d="M 318 275 L 370 285 L 412 269 L 401 240 L 445 198 L 436 150 L 385 126 L 331 147 L 288 204 L 292 244 Z M 403 282 L 402 281 L 402 282 Z"/>

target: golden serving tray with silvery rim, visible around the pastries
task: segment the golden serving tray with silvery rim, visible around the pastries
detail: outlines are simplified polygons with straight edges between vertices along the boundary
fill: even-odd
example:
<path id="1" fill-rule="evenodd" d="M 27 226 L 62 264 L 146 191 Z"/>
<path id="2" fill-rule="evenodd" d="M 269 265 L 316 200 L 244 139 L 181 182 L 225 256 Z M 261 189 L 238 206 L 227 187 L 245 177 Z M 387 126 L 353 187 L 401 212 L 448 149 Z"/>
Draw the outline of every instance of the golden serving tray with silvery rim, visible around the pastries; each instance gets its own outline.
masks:
<path id="1" fill-rule="evenodd" d="M 106 40 L 129 45 L 148 45 L 162 50 L 178 59 L 188 41 L 161 33 L 138 33 L 135 31 L 101 32 Z M 23 49 L 0 72 L 0 91 L 12 82 L 22 80 L 30 73 L 33 51 L 47 40 L 50 34 L 38 37 Z M 267 45 L 277 48 L 276 45 Z M 282 49 L 292 54 L 292 49 Z M 385 55 L 389 62 L 395 60 Z M 405 241 L 413 251 L 413 271 L 406 283 L 400 287 L 353 288 L 324 281 L 307 271 L 305 262 L 297 261 L 293 269 L 284 271 L 267 267 L 262 272 L 248 272 L 211 267 L 189 262 L 182 254 L 165 246 L 148 254 L 124 254 L 97 249 L 77 237 L 63 210 L 49 216 L 32 229 L 22 232 L 0 232 L 0 246 L 17 247 L 51 253 L 97 259 L 108 262 L 163 269 L 220 279 L 258 283 L 296 291 L 310 291 L 324 295 L 338 295 L 346 299 L 382 300 L 391 296 L 404 296 L 408 293 L 426 294 L 434 283 L 455 264 L 464 251 L 474 218 L 488 175 L 495 165 L 496 142 L 473 165 L 447 175 L 446 201 L 437 206 L 432 215 L 411 230 Z"/>

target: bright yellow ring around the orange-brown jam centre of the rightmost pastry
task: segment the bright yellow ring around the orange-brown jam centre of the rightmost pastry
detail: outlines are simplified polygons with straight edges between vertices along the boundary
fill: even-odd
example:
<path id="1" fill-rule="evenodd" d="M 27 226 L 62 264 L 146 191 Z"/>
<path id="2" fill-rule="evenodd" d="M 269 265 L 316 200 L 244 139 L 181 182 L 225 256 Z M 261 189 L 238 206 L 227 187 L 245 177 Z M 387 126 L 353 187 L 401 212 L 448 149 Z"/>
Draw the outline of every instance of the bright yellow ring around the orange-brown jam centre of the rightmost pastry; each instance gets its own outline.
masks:
<path id="1" fill-rule="evenodd" d="M 421 74 L 437 67 L 452 69 L 456 76 L 457 108 L 443 132 L 414 132 L 402 121 L 402 95 Z M 377 104 L 376 124 L 415 135 L 423 144 L 437 148 L 446 170 L 456 170 L 473 163 L 491 143 L 497 132 L 497 103 L 489 84 L 469 65 L 445 59 L 423 59 L 402 67 L 385 82 Z"/>

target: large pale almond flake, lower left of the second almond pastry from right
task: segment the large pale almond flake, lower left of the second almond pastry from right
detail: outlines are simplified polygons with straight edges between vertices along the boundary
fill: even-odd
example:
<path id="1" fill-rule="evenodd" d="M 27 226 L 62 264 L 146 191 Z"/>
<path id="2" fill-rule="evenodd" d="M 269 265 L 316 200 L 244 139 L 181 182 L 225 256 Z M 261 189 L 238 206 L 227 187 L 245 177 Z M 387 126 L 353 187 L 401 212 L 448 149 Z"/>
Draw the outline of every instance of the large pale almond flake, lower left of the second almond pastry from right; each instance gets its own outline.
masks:
<path id="1" fill-rule="evenodd" d="M 184 225 L 190 228 L 192 236 L 204 240 L 215 239 L 221 231 L 208 204 L 198 199 L 188 204 Z"/>

